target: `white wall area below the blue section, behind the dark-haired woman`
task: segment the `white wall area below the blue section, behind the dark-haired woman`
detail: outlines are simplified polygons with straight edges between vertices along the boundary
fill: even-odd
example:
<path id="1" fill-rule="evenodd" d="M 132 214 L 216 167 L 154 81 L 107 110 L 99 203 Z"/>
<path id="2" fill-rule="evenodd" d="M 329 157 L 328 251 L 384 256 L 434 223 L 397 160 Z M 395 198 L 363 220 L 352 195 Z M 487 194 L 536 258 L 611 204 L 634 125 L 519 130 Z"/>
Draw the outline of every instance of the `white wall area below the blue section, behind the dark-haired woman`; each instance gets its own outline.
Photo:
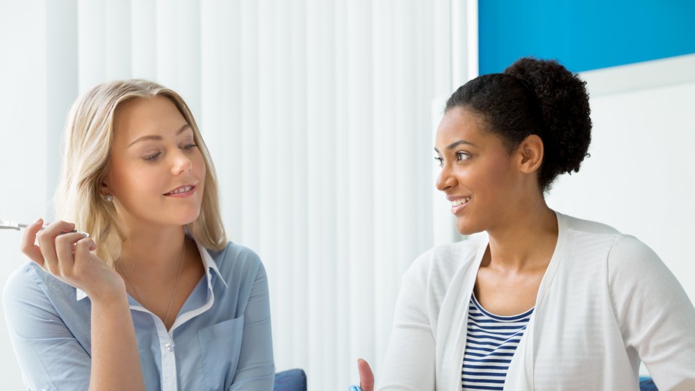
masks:
<path id="1" fill-rule="evenodd" d="M 548 205 L 653 248 L 695 301 L 695 55 L 586 72 L 594 122 Z"/>

